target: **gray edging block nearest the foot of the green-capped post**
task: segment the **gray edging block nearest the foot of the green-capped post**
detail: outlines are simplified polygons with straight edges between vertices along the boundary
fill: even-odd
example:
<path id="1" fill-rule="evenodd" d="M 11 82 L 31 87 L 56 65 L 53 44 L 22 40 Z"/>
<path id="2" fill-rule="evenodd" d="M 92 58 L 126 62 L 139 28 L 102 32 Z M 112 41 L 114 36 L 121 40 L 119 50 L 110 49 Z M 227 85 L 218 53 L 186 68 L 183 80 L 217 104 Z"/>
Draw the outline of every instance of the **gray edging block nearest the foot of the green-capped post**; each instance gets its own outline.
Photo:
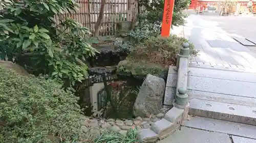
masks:
<path id="1" fill-rule="evenodd" d="M 165 113 L 164 118 L 169 122 L 172 122 L 173 124 L 176 124 L 176 123 L 180 124 L 182 120 L 183 112 L 184 112 L 183 109 L 173 107 L 172 109 L 170 109 Z"/>

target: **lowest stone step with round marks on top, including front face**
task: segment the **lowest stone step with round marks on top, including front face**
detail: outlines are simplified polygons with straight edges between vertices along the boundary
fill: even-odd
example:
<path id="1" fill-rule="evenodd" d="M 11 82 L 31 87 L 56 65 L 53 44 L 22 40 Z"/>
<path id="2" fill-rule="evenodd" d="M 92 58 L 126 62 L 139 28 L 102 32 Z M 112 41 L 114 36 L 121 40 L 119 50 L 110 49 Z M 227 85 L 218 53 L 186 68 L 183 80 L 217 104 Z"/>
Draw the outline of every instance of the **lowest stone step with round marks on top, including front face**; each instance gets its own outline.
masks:
<path id="1" fill-rule="evenodd" d="M 201 99 L 191 99 L 189 104 L 190 115 L 256 125 L 256 107 Z"/>

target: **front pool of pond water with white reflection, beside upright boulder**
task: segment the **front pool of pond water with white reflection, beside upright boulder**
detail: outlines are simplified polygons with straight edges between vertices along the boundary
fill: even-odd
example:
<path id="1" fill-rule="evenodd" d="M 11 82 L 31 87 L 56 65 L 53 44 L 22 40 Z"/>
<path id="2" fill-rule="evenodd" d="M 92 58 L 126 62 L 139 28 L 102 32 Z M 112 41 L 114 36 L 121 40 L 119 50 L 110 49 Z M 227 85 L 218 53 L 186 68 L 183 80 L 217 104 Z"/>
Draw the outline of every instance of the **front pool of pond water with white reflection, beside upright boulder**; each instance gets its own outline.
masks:
<path id="1" fill-rule="evenodd" d="M 133 118 L 133 105 L 139 93 L 143 78 L 118 76 L 117 79 L 104 83 L 95 83 L 91 87 L 77 92 L 80 106 L 86 116 L 102 118 Z"/>

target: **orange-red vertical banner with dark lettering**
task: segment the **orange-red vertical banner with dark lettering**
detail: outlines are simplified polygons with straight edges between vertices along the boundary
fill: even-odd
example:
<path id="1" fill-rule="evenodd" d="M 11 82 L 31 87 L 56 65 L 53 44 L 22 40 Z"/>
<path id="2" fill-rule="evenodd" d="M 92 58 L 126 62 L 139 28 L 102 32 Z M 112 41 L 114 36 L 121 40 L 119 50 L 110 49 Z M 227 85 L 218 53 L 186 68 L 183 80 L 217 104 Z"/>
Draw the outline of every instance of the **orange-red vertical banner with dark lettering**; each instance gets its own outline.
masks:
<path id="1" fill-rule="evenodd" d="M 170 36 L 170 26 L 172 26 L 174 11 L 174 0 L 164 0 L 163 21 L 162 21 L 162 37 Z"/>

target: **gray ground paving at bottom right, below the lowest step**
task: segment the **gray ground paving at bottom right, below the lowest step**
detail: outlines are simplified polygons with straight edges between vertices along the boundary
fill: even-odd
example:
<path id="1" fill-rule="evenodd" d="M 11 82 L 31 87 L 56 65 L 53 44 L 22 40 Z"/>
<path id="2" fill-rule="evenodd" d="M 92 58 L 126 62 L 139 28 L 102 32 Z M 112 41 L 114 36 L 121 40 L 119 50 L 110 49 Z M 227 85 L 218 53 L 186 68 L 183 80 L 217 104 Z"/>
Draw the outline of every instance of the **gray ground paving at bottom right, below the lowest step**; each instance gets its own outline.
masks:
<path id="1" fill-rule="evenodd" d="M 193 117 L 158 143 L 255 143 L 255 126 Z"/>

